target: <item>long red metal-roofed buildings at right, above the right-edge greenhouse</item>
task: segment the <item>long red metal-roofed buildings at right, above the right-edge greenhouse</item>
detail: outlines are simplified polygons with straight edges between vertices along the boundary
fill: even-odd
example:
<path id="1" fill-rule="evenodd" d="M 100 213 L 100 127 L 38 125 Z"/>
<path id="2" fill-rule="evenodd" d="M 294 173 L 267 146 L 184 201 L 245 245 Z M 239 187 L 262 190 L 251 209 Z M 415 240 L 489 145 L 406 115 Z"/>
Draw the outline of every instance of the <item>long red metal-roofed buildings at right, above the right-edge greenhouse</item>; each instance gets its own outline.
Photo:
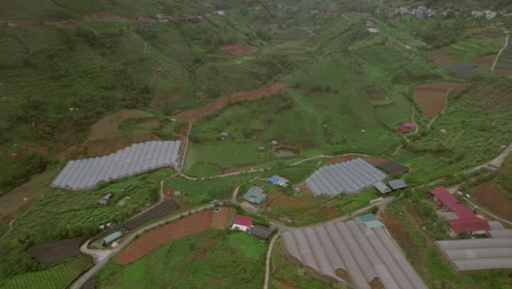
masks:
<path id="1" fill-rule="evenodd" d="M 453 211 L 458 219 L 449 220 L 450 227 L 455 233 L 485 233 L 490 230 L 489 223 L 476 217 L 476 215 L 454 197 L 445 187 L 437 187 L 430 193 L 434 196 L 438 205 L 443 206 L 446 210 Z"/>

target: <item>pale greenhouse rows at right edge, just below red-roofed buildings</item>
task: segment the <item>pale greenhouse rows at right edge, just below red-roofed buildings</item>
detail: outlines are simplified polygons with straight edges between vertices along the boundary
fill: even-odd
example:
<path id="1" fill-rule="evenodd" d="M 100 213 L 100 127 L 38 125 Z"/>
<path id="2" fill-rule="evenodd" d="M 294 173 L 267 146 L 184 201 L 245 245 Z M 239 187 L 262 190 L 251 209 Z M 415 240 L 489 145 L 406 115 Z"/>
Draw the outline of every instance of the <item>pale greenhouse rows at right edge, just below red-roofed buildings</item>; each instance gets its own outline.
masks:
<path id="1" fill-rule="evenodd" d="M 437 241 L 456 270 L 512 268 L 512 230 L 491 221 L 490 239 Z"/>

